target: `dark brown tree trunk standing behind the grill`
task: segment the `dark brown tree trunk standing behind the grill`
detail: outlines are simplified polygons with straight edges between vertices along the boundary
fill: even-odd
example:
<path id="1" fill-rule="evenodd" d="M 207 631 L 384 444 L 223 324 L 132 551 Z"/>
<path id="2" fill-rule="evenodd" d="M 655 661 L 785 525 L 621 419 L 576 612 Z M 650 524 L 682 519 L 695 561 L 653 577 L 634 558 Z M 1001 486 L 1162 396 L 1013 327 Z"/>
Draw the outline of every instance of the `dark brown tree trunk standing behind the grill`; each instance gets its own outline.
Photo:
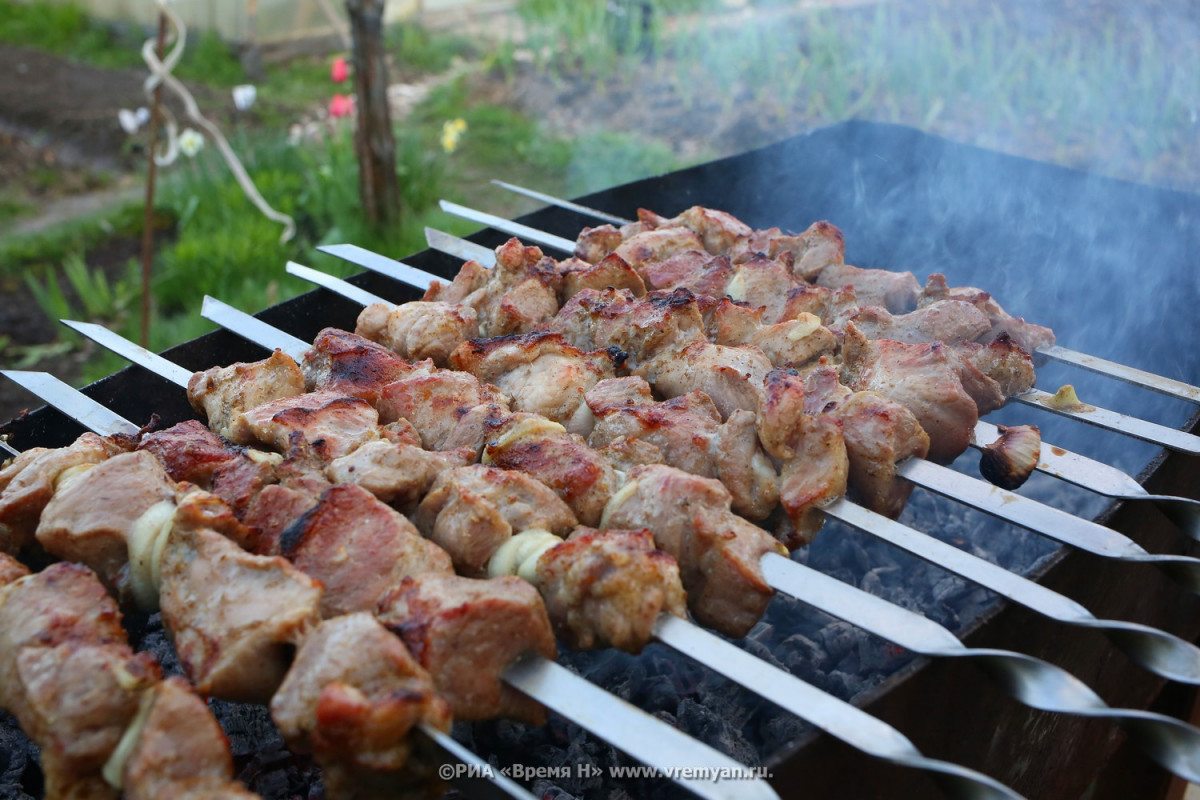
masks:
<path id="1" fill-rule="evenodd" d="M 396 138 L 388 109 L 388 66 L 383 47 L 385 0 L 346 0 L 354 37 L 354 94 L 358 128 L 359 198 L 374 225 L 400 222 L 400 181 L 396 178 Z"/>

